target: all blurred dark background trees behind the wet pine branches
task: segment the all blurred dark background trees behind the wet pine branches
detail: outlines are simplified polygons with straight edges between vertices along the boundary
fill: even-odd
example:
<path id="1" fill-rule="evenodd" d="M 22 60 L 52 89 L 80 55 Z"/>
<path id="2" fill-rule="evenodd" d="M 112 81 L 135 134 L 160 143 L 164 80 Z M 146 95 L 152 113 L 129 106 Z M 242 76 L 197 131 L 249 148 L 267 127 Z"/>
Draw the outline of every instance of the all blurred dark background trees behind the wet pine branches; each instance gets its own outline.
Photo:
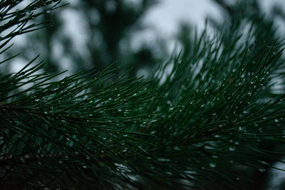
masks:
<path id="1" fill-rule="evenodd" d="M 208 26 L 214 28 L 218 33 L 224 27 L 237 31 L 236 26 L 244 20 L 253 23 L 254 27 L 260 28 L 260 32 L 254 33 L 255 43 L 251 46 L 252 52 L 261 52 L 259 39 L 267 36 L 267 42 L 271 46 L 274 41 L 281 38 L 278 33 L 280 24 L 284 24 L 285 13 L 282 6 L 274 5 L 269 14 L 264 14 L 260 1 L 226 1 L 212 0 L 222 12 L 223 19 L 215 20 L 208 16 Z M 152 43 L 142 43 L 139 48 L 132 48 L 130 45 L 135 33 L 145 29 L 142 25 L 142 18 L 152 6 L 160 4 L 158 0 L 142 1 L 120 1 L 120 0 L 86 0 L 76 1 L 61 9 L 45 14 L 38 18 L 40 22 L 53 22 L 52 27 L 43 28 L 35 33 L 28 34 L 22 39 L 22 43 L 16 44 L 14 50 L 21 52 L 21 58 L 30 60 L 33 53 L 41 52 L 41 57 L 48 63 L 46 69 L 51 72 L 68 69 L 72 73 L 78 70 L 94 67 L 95 70 L 103 70 L 111 63 L 120 67 L 120 73 L 130 70 L 129 77 L 145 75 L 150 76 L 157 64 L 164 63 L 170 57 L 167 51 L 168 39 L 157 33 L 156 41 Z M 68 19 L 64 19 L 66 12 L 71 11 L 81 19 L 75 19 L 76 27 L 83 27 L 84 33 L 76 33 L 74 36 L 68 35 Z M 73 19 L 74 20 L 74 19 Z M 271 28 L 262 30 L 262 28 Z M 67 33 L 66 33 L 67 31 Z M 189 52 L 192 48 L 195 27 L 189 22 L 181 22 L 178 32 L 174 38 L 177 46 L 183 52 Z M 225 35 L 225 43 L 232 40 Z M 280 42 L 280 41 L 278 41 Z M 277 44 L 284 47 L 284 44 Z M 227 44 L 223 46 L 227 47 Z M 81 48 L 78 48 L 81 47 Z M 83 48 L 82 48 L 83 47 Z M 9 55 L 7 55 L 9 56 Z M 187 56 L 187 55 L 184 55 Z M 12 67 L 12 66 L 11 66 Z M 11 69 L 11 68 L 10 68 Z M 269 144 L 261 144 L 268 151 L 284 149 L 283 147 L 272 147 Z M 285 149 L 284 149 L 285 150 Z M 271 163 L 274 164 L 274 163 Z M 224 167 L 229 167 L 224 165 Z M 231 170 L 231 169 L 229 169 Z M 254 182 L 250 181 L 248 189 L 266 189 L 269 181 L 276 176 L 271 176 L 270 169 L 265 168 L 264 172 L 257 172 L 248 168 L 240 169 Z M 285 184 L 279 180 L 278 188 L 285 188 Z"/>

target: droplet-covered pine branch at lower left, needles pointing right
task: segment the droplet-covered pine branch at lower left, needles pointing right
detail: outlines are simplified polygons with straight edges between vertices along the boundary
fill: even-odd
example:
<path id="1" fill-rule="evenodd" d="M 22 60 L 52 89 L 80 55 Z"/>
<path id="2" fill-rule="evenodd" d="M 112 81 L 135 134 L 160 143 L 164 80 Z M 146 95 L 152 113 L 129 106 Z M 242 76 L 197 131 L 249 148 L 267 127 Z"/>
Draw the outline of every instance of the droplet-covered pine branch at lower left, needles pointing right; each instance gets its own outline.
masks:
<path id="1" fill-rule="evenodd" d="M 115 172 L 110 161 L 120 163 L 127 148 L 141 152 L 139 145 L 150 144 L 135 139 L 147 134 L 136 132 L 131 125 L 134 121 L 151 122 L 150 115 L 142 110 L 153 97 L 147 84 L 121 78 L 108 85 L 110 69 L 98 75 L 86 71 L 49 82 L 55 75 L 36 74 L 41 67 L 35 65 L 11 78 L 1 78 L 3 93 L 10 92 L 1 98 L 0 105 L 3 186 L 33 187 L 51 180 L 50 187 L 77 186 L 82 183 L 78 180 L 90 186 L 99 179 L 105 184 L 109 173 Z M 93 80 L 84 79 L 91 77 Z M 9 88 L 11 83 L 16 85 Z M 13 93 L 28 84 L 32 86 Z M 89 88 L 93 91 L 88 92 Z M 135 90 L 140 93 L 134 95 Z M 82 172 L 82 176 L 87 175 L 81 170 L 100 176 L 88 184 L 84 177 L 77 179 Z"/>

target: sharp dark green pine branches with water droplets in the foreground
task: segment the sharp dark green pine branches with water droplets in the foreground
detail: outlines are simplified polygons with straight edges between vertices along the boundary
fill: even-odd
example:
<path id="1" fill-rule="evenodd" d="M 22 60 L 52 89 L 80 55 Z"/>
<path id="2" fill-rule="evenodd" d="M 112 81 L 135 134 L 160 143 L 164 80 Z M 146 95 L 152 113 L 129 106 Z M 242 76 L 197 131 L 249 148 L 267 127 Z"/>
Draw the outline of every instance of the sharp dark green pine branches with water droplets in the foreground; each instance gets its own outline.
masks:
<path id="1" fill-rule="evenodd" d="M 0 2 L 1 56 L 61 6 L 24 2 Z M 114 78 L 113 65 L 58 80 L 37 58 L 1 73 L 1 189 L 247 188 L 284 163 L 285 95 L 274 90 L 276 78 L 284 88 L 283 41 L 268 41 L 272 27 L 195 33 L 150 81 Z"/>

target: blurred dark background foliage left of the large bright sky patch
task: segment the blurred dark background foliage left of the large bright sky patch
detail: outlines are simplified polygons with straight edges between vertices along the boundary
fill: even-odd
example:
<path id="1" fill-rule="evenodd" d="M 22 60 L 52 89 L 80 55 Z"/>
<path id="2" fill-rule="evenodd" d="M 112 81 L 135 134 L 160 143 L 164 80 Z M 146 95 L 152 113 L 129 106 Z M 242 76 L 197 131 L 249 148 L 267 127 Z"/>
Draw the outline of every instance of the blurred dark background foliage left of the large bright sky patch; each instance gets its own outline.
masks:
<path id="1" fill-rule="evenodd" d="M 27 60 L 40 50 L 48 69 L 71 70 L 72 73 L 95 67 L 100 71 L 115 63 L 120 73 L 133 68 L 129 75 L 147 75 L 155 63 L 162 63 L 167 54 L 165 39 L 130 46 L 135 33 L 144 30 L 142 16 L 158 1 L 77 1 L 61 11 L 52 11 L 38 18 L 39 22 L 52 22 L 36 34 L 26 36 L 26 43 L 17 47 Z M 75 23 L 69 23 L 73 15 Z M 75 26 L 76 30 L 69 26 Z M 80 30 L 78 30 L 80 28 Z M 80 31 L 81 33 L 76 33 Z"/>

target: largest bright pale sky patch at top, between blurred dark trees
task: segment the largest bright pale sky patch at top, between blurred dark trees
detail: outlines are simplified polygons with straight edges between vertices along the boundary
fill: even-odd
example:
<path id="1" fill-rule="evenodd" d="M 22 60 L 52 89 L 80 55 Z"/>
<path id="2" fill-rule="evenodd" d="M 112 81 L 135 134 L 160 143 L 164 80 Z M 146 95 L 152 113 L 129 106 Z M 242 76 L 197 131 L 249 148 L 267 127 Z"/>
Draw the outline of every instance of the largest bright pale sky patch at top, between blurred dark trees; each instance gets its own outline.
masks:
<path id="1" fill-rule="evenodd" d="M 144 23 L 170 35 L 177 31 L 180 21 L 203 28 L 206 16 L 210 15 L 221 18 L 219 9 L 211 0 L 161 0 L 148 11 Z"/>

